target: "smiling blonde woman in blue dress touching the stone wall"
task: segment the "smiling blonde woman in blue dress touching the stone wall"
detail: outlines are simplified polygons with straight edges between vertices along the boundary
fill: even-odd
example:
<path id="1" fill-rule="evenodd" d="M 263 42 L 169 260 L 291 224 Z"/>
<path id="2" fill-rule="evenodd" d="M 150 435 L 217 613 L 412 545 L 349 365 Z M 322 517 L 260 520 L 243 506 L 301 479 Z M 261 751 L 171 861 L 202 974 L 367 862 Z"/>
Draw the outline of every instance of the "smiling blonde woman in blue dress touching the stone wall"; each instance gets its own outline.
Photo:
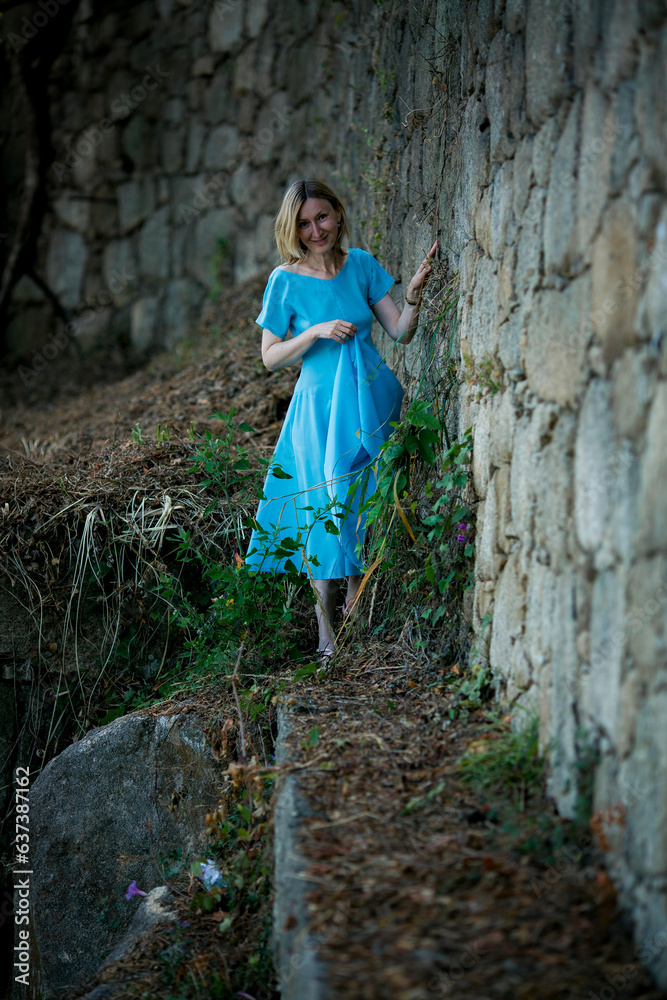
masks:
<path id="1" fill-rule="evenodd" d="M 347 578 L 349 613 L 362 578 L 363 495 L 370 466 L 400 416 L 403 389 L 371 339 L 375 316 L 392 340 L 417 328 L 419 295 L 437 240 L 408 284 L 399 313 L 394 279 L 365 250 L 343 249 L 345 209 L 321 181 L 295 181 L 276 217 L 285 263 L 269 275 L 262 360 L 269 371 L 303 359 L 257 511 L 246 566 L 307 572 L 317 592 L 318 653 L 334 651 L 335 581 Z M 364 470 L 370 470 L 364 475 Z"/>

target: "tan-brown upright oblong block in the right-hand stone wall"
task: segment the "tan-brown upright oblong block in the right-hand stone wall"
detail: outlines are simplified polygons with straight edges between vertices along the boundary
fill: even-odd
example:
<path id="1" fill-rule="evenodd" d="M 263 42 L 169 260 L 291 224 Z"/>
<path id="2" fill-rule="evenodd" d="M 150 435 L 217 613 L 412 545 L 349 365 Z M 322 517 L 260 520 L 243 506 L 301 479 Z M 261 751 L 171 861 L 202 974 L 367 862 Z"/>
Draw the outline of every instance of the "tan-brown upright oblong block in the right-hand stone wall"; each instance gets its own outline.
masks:
<path id="1" fill-rule="evenodd" d="M 638 264 L 635 213 L 617 198 L 604 214 L 593 247 L 591 318 L 607 364 L 636 340 Z"/>

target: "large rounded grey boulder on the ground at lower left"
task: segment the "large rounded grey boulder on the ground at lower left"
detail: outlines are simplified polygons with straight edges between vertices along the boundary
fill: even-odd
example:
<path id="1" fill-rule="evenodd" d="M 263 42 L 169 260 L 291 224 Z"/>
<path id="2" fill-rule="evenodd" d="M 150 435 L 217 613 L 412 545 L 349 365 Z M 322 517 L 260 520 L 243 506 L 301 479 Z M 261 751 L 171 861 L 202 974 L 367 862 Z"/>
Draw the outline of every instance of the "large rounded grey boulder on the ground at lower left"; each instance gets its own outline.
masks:
<path id="1" fill-rule="evenodd" d="M 51 991 L 88 979 L 163 882 L 160 857 L 206 844 L 218 765 L 185 714 L 130 715 L 88 733 L 32 785 L 31 952 Z M 102 916 L 102 919 L 100 919 Z"/>

